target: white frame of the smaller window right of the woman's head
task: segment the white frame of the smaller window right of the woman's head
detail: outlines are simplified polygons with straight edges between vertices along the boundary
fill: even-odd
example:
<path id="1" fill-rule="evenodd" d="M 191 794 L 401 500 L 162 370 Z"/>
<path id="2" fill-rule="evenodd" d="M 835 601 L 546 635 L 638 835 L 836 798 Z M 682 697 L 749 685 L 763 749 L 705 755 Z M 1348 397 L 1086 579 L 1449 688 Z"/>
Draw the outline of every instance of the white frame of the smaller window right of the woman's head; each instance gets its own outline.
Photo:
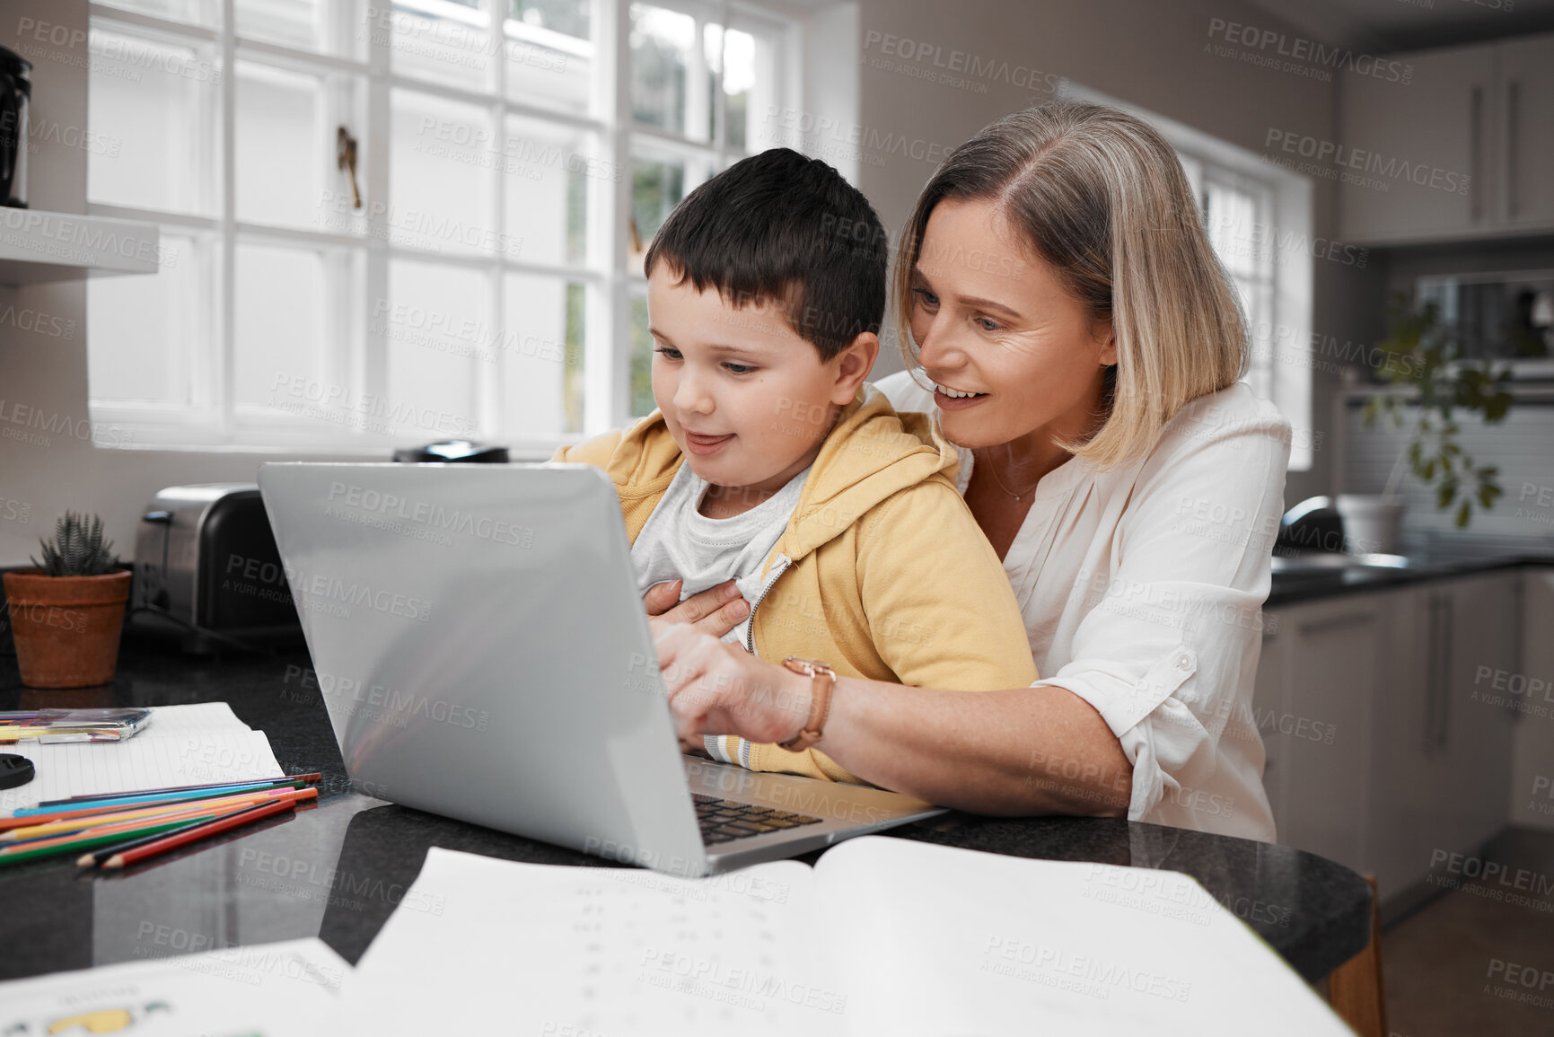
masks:
<path id="1" fill-rule="evenodd" d="M 1256 199 L 1259 286 L 1268 292 L 1268 314 L 1248 328 L 1249 375 L 1267 384 L 1267 396 L 1290 424 L 1290 471 L 1310 471 L 1312 432 L 1312 308 L 1313 308 L 1313 210 L 1312 182 L 1267 163 L 1253 151 L 1231 145 L 1200 129 L 1119 101 L 1099 90 L 1064 79 L 1060 96 L 1110 104 L 1138 115 L 1176 149 L 1183 169 L 1203 205 L 1204 180 L 1217 180 Z M 1201 208 L 1200 208 L 1201 215 Z M 1284 247 L 1291 243 L 1296 247 Z"/>

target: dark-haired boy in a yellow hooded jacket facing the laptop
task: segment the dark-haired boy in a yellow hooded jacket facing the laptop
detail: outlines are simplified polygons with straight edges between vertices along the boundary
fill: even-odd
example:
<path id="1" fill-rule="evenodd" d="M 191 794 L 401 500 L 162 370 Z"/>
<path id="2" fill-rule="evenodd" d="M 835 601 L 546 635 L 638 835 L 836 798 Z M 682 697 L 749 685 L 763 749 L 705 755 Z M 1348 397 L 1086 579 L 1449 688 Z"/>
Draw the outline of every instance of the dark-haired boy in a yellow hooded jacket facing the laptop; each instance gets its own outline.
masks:
<path id="1" fill-rule="evenodd" d="M 763 659 L 1026 686 L 1024 622 L 956 493 L 956 449 L 864 382 L 886 252 L 867 199 L 824 162 L 780 148 L 707 180 L 645 260 L 657 410 L 553 460 L 614 479 L 639 592 L 733 578 L 751 614 L 724 641 Z M 706 745 L 751 770 L 859 780 L 817 749 Z"/>

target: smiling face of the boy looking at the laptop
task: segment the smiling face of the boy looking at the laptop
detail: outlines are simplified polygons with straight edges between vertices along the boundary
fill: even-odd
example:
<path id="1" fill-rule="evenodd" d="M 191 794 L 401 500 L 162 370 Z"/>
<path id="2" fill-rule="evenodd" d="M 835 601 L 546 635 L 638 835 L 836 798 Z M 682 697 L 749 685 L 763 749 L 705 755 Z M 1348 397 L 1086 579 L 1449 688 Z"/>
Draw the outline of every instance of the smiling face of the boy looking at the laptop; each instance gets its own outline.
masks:
<path id="1" fill-rule="evenodd" d="M 718 487 L 774 493 L 803 471 L 873 364 L 875 336 L 831 361 L 799 337 L 782 308 L 735 309 L 657 263 L 648 278 L 653 398 L 698 476 Z M 862 344 L 862 350 L 859 350 Z"/>

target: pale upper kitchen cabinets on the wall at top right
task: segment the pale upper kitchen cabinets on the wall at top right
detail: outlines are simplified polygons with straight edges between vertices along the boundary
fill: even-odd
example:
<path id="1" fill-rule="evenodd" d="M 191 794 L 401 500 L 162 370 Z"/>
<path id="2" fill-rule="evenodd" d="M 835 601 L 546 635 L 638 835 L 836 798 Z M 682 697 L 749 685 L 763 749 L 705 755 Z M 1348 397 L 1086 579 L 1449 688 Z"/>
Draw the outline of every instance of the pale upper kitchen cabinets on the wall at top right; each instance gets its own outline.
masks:
<path id="1" fill-rule="evenodd" d="M 1338 236 L 1383 246 L 1554 230 L 1554 36 L 1388 61 L 1413 65 L 1406 84 L 1340 76 L 1338 140 L 1319 162 L 1338 180 Z"/>

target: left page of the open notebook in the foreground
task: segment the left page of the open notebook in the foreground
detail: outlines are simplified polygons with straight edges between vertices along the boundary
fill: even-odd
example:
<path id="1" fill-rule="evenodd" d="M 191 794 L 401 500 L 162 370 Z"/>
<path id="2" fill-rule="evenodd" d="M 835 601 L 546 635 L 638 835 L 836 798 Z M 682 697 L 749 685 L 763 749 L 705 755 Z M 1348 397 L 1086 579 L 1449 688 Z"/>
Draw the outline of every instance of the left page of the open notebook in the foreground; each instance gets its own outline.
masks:
<path id="1" fill-rule="evenodd" d="M 816 955 L 793 959 L 816 939 L 811 880 L 793 861 L 687 880 L 432 847 L 348 1014 L 357 1034 L 833 1034 L 845 1001 Z"/>

